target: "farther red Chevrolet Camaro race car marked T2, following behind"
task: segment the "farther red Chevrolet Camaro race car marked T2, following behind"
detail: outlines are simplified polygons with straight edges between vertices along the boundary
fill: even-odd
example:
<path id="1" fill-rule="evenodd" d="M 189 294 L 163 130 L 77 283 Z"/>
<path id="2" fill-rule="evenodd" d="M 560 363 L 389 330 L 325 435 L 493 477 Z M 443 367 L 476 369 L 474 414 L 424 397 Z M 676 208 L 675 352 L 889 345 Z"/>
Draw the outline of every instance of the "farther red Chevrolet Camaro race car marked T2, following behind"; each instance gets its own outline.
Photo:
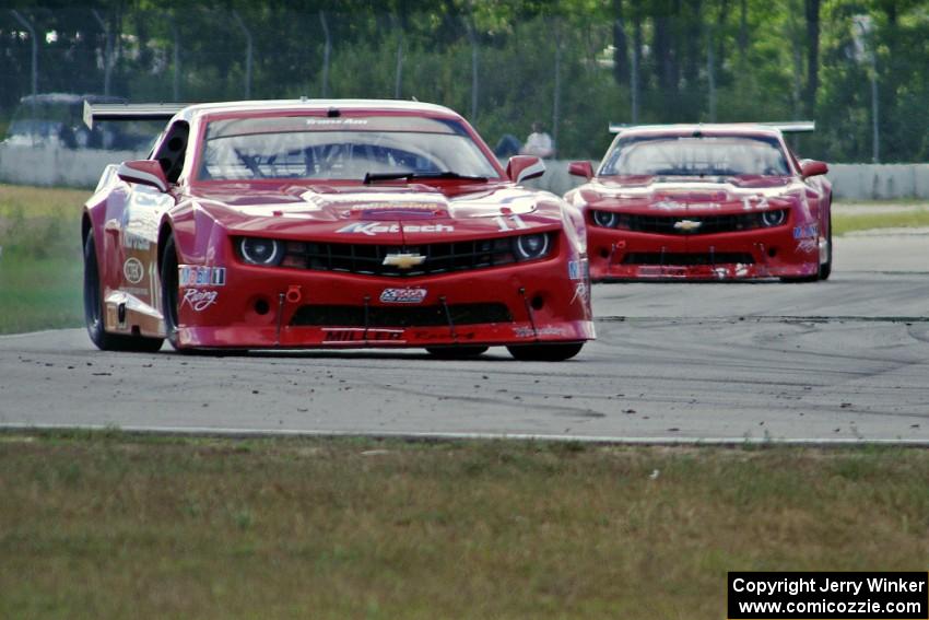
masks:
<path id="1" fill-rule="evenodd" d="M 832 186 L 785 131 L 812 122 L 670 125 L 618 132 L 596 175 L 565 195 L 584 210 L 590 277 L 825 280 Z"/>

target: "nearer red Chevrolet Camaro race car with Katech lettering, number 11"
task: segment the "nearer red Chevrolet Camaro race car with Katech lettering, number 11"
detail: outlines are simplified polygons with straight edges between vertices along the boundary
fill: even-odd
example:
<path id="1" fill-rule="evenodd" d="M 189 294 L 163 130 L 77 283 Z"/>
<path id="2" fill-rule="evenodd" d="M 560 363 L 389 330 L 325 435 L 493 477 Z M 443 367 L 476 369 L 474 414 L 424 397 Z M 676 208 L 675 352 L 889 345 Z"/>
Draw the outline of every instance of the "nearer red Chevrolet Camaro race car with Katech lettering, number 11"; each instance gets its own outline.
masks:
<path id="1" fill-rule="evenodd" d="M 518 184 L 471 126 L 414 102 L 89 105 L 169 120 L 109 166 L 83 214 L 101 349 L 506 346 L 565 360 L 593 338 L 580 212 Z"/>

